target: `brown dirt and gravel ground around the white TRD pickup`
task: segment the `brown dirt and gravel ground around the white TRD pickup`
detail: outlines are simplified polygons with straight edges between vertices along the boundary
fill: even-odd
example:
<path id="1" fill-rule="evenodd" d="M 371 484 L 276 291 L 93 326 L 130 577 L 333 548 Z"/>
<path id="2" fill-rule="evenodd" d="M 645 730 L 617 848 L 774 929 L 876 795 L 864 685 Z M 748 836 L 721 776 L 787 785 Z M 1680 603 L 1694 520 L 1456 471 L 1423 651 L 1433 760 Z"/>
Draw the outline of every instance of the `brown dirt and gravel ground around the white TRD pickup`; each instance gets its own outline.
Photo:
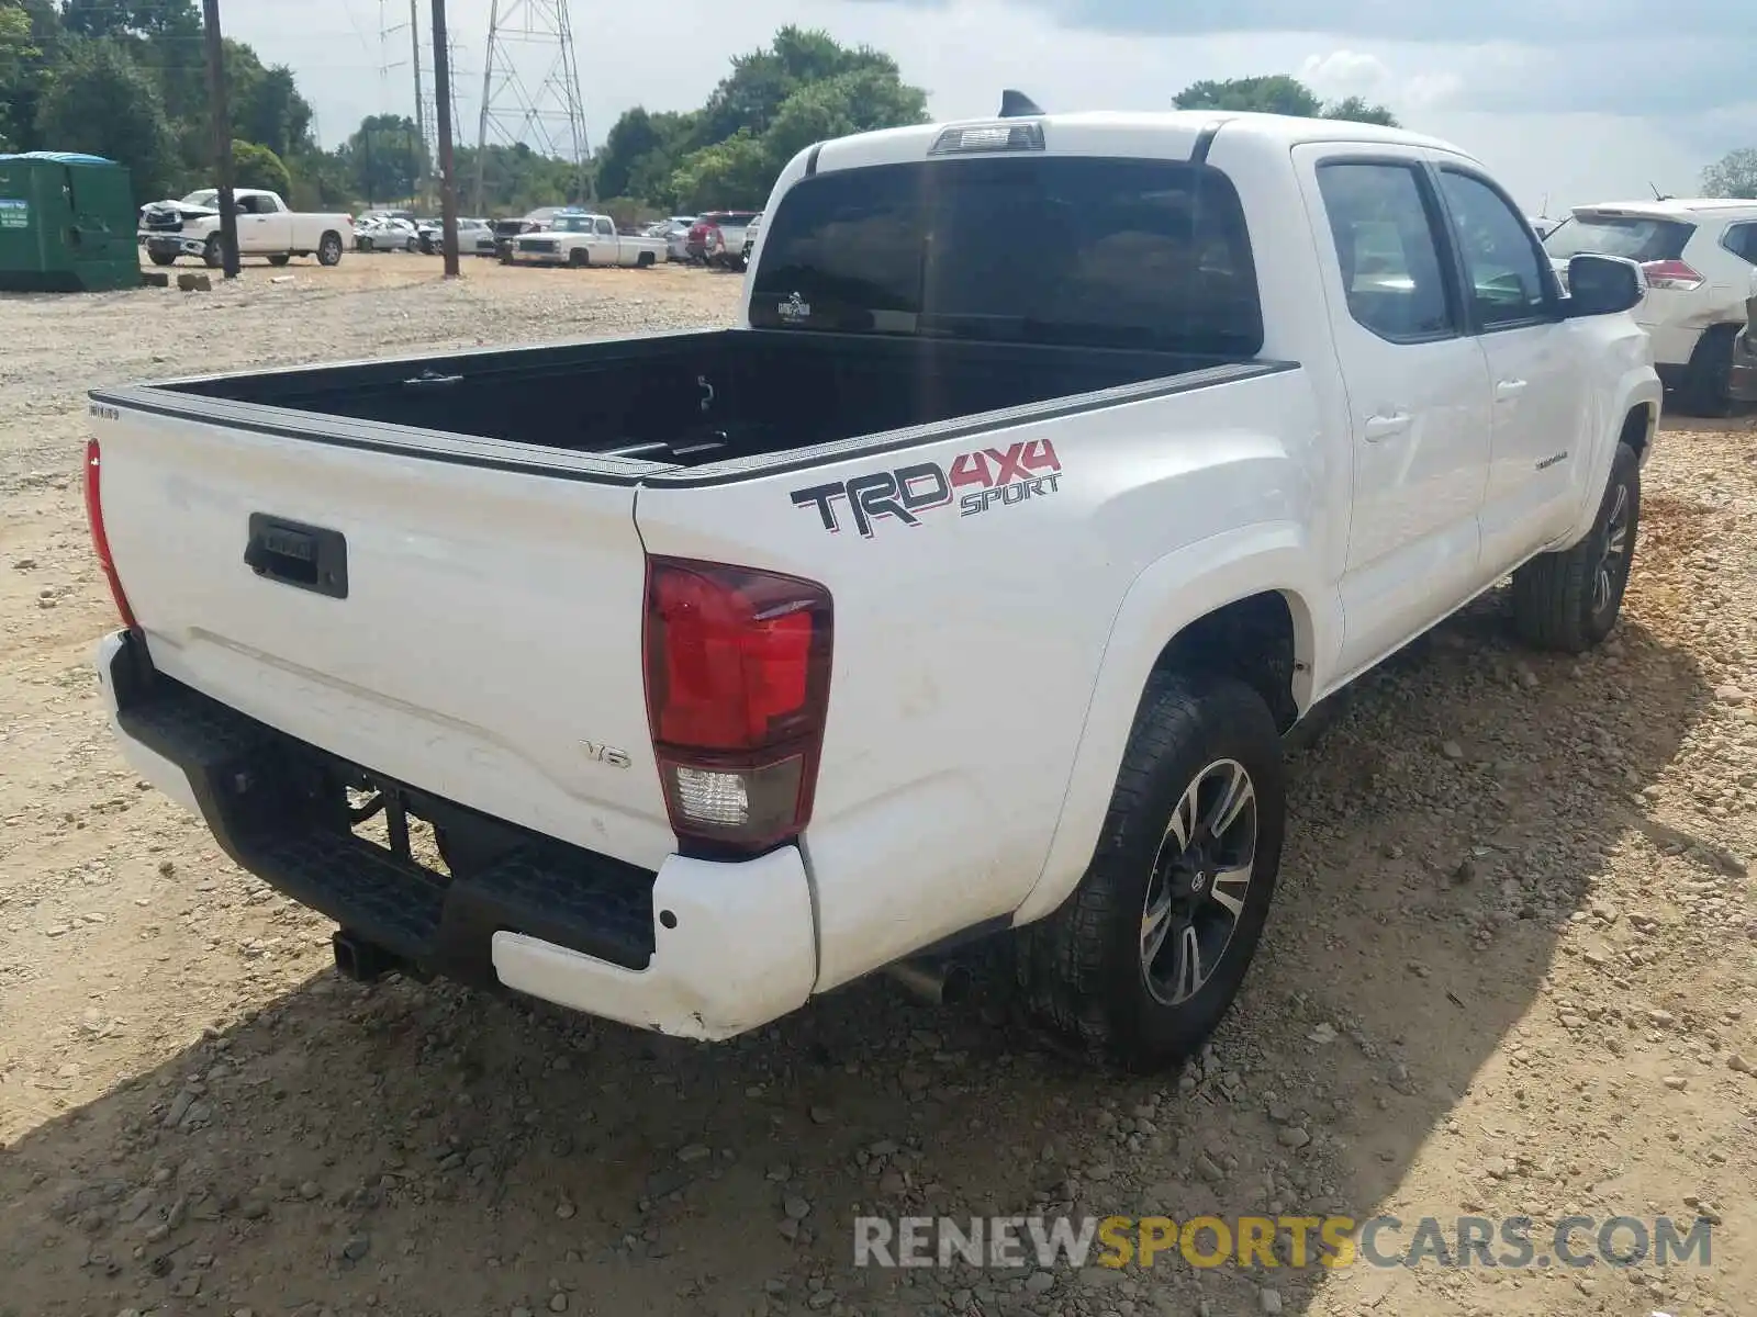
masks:
<path id="1" fill-rule="evenodd" d="M 0 299 L 0 1313 L 1757 1312 L 1750 420 L 1667 421 L 1601 651 L 1523 653 L 1488 597 L 1295 759 L 1269 934 L 1182 1073 L 1081 1068 L 998 969 L 694 1047 L 336 978 L 329 925 L 114 752 L 77 467 L 88 386 L 724 321 L 738 281 L 281 274 Z M 857 1270 L 863 1212 L 1704 1217 L 1713 1247 Z"/>

